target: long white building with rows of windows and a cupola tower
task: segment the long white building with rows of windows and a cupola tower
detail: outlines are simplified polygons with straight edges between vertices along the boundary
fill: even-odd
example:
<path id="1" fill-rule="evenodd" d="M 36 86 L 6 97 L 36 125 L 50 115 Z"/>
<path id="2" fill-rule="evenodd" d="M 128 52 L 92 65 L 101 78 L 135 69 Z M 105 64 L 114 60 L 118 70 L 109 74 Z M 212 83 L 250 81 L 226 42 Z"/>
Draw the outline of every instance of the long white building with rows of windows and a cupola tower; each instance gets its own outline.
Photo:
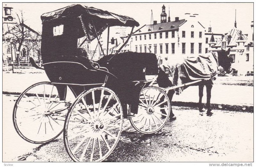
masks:
<path id="1" fill-rule="evenodd" d="M 169 12 L 170 13 L 170 12 Z M 198 14 L 185 14 L 185 19 L 166 20 L 165 6 L 162 7 L 161 23 L 144 25 L 132 35 L 133 52 L 152 52 L 167 60 L 172 55 L 190 57 L 204 54 L 205 28 L 197 20 Z"/>

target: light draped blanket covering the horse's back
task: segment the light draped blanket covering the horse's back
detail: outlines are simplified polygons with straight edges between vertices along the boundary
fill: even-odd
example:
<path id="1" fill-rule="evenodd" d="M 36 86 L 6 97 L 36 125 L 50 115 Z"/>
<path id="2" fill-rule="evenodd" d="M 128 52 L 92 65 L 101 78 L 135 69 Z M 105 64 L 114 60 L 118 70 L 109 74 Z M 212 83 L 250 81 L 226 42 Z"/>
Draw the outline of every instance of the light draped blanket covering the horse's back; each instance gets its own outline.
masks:
<path id="1" fill-rule="evenodd" d="M 196 57 L 183 58 L 180 55 L 163 62 L 160 68 L 169 76 L 172 85 L 180 85 L 204 79 L 209 80 L 218 73 L 218 53 L 210 52 Z M 180 94 L 186 87 L 174 89 Z"/>

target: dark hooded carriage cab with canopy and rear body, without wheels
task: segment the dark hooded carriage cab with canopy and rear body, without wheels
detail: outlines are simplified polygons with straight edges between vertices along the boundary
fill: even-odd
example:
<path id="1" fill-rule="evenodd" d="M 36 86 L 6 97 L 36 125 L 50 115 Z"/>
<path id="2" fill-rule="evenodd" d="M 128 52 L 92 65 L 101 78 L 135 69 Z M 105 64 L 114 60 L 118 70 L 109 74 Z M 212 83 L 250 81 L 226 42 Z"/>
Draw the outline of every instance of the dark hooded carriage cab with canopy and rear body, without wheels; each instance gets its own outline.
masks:
<path id="1" fill-rule="evenodd" d="M 139 23 L 130 17 L 80 4 L 44 13 L 41 20 L 41 54 L 45 72 L 52 83 L 62 83 L 69 87 L 70 84 L 76 85 L 71 86 L 75 95 L 84 90 L 77 85 L 100 85 L 111 75 L 106 68 L 100 68 L 99 64 L 88 60 L 87 54 L 81 53 L 77 39 L 84 37 L 84 41 L 88 43 L 94 39 L 99 42 L 99 36 L 106 28 L 125 26 L 132 27 L 133 30 L 134 26 L 139 26 Z M 127 42 L 131 35 L 132 32 Z M 99 46 L 101 47 L 100 42 Z M 104 54 L 102 48 L 101 51 Z M 60 93 L 63 98 L 64 95 L 61 94 L 65 92 L 64 87 L 65 85 L 57 86 L 58 90 L 63 92 Z"/>

